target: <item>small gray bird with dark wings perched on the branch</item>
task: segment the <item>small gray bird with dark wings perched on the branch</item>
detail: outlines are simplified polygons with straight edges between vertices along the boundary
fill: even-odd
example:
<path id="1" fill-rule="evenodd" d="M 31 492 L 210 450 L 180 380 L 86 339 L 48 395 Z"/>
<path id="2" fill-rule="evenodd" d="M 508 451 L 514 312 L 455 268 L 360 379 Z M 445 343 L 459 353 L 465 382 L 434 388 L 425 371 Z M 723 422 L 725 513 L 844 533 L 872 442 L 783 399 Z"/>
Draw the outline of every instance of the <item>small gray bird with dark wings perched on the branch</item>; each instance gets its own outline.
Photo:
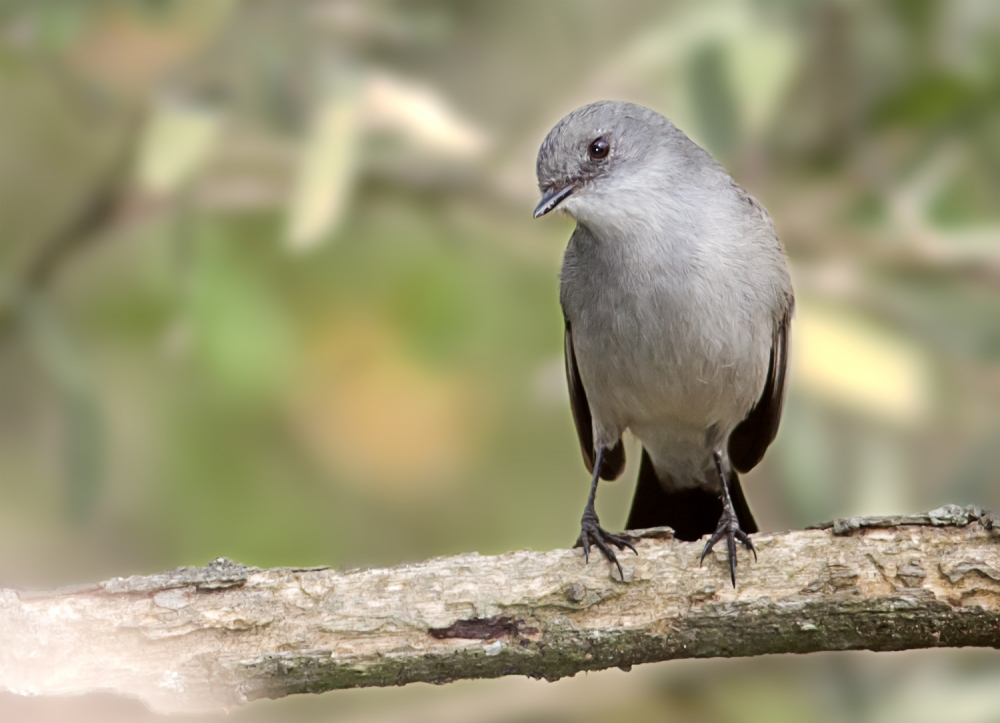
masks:
<path id="1" fill-rule="evenodd" d="M 576 219 L 563 258 L 566 377 L 593 473 L 578 544 L 635 552 L 601 528 L 600 479 L 642 443 L 628 529 L 681 540 L 757 531 L 737 472 L 760 462 L 781 418 L 794 298 L 767 211 L 659 113 L 603 101 L 578 108 L 538 151 L 542 200 Z"/>

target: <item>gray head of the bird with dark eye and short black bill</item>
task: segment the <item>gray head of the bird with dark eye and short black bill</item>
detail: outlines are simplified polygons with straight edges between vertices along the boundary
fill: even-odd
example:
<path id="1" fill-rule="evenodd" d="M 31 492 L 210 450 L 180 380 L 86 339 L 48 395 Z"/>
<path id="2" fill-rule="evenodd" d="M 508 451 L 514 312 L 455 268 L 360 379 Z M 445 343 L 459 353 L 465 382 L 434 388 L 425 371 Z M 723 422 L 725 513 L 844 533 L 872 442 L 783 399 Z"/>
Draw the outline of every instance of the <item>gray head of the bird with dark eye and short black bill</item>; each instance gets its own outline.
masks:
<path id="1" fill-rule="evenodd" d="M 567 115 L 538 150 L 542 200 L 535 218 L 561 208 L 578 220 L 641 202 L 650 174 L 680 132 L 659 113 L 632 103 L 600 101 Z"/>

